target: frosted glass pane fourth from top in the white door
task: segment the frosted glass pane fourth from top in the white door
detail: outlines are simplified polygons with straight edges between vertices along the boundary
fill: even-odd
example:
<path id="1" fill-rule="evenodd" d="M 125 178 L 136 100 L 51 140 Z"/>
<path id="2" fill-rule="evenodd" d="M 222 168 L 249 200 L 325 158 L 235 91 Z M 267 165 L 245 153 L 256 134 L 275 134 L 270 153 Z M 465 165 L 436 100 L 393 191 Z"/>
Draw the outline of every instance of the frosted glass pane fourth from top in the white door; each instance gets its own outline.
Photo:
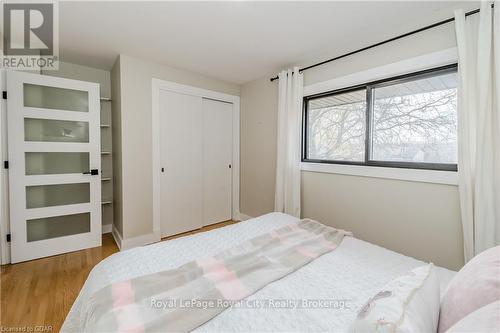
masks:
<path id="1" fill-rule="evenodd" d="M 90 184 L 57 184 L 26 187 L 26 208 L 73 205 L 90 202 Z"/>

